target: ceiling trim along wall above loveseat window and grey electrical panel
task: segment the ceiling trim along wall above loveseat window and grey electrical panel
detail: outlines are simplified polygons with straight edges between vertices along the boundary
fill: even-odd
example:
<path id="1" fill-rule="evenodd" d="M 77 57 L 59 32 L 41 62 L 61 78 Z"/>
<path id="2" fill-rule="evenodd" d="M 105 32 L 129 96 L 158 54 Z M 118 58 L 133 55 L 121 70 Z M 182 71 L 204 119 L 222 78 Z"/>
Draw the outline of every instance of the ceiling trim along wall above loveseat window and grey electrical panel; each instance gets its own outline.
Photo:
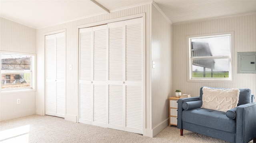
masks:
<path id="1" fill-rule="evenodd" d="M 201 20 L 193 20 L 193 21 L 188 21 L 188 22 L 176 22 L 173 25 L 182 25 L 182 24 L 190 24 L 194 22 L 205 22 L 205 21 L 210 21 L 210 20 L 219 20 L 219 19 L 224 19 L 224 18 L 235 18 L 235 17 L 240 17 L 240 16 L 250 16 L 254 15 L 256 12 L 251 12 L 251 13 L 246 13 L 246 14 L 237 14 L 237 15 L 232 15 L 232 16 L 222 16 L 222 17 L 216 17 L 216 18 L 207 18 L 207 19 L 201 19 Z"/>

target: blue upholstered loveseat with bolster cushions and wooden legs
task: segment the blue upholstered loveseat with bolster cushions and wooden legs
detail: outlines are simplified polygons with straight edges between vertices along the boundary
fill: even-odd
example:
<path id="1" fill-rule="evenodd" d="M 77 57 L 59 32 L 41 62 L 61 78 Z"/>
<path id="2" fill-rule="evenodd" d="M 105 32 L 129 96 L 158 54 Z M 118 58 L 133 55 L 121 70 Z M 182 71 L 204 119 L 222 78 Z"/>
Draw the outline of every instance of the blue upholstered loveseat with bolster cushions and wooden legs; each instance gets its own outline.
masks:
<path id="1" fill-rule="evenodd" d="M 202 88 L 200 88 L 200 96 L 178 100 L 177 127 L 180 129 L 180 135 L 183 135 L 183 129 L 186 129 L 231 143 L 248 143 L 251 140 L 255 143 L 256 102 L 251 90 L 239 89 L 237 107 L 221 112 L 200 108 Z"/>

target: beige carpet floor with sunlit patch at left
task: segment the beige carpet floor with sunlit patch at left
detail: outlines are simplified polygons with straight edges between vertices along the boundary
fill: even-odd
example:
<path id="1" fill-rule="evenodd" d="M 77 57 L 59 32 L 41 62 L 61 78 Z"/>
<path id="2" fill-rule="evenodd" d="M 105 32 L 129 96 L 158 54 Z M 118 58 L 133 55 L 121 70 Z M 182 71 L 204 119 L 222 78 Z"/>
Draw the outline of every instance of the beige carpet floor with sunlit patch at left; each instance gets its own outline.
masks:
<path id="1" fill-rule="evenodd" d="M 155 137 L 32 115 L 0 122 L 1 143 L 228 143 L 180 129 L 166 127 Z M 252 142 L 252 141 L 251 141 Z M 250 143 L 251 143 L 250 142 Z"/>

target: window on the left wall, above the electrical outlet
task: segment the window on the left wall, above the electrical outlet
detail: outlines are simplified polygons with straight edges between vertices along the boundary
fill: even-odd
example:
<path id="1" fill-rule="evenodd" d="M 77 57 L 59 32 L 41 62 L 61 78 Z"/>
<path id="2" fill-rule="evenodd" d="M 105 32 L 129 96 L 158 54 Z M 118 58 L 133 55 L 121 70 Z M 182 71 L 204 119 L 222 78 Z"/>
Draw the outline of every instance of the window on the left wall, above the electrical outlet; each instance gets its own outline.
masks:
<path id="1" fill-rule="evenodd" d="M 1 91 L 34 88 L 34 54 L 1 51 Z"/>

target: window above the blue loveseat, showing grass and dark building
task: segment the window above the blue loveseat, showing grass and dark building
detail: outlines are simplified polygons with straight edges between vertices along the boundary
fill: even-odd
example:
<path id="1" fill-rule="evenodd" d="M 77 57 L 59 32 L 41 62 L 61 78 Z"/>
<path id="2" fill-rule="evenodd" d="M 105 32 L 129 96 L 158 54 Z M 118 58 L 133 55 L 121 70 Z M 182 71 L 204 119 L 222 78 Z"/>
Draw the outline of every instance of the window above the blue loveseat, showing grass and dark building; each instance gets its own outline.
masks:
<path id="1" fill-rule="evenodd" d="M 188 80 L 232 80 L 232 33 L 190 36 L 188 41 Z"/>

